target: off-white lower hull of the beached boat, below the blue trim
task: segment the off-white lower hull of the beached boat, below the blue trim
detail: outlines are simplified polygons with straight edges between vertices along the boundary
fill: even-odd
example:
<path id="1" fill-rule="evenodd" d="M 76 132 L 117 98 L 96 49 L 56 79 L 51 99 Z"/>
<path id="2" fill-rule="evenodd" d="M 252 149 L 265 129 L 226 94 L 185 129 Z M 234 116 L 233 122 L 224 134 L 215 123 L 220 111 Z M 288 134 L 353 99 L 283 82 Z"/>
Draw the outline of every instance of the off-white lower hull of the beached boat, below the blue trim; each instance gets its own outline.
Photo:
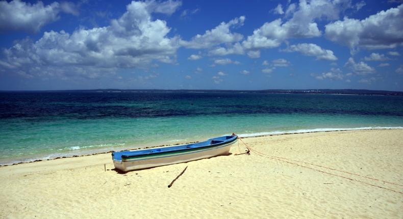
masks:
<path id="1" fill-rule="evenodd" d="M 230 148 L 235 142 L 229 142 L 217 147 L 204 148 L 199 150 L 188 150 L 178 154 L 162 154 L 152 157 L 134 157 L 127 160 L 113 160 L 116 169 L 128 172 L 133 170 L 141 170 L 165 165 L 171 165 L 174 163 L 189 162 L 192 160 L 210 158 L 219 155 L 228 155 Z"/>

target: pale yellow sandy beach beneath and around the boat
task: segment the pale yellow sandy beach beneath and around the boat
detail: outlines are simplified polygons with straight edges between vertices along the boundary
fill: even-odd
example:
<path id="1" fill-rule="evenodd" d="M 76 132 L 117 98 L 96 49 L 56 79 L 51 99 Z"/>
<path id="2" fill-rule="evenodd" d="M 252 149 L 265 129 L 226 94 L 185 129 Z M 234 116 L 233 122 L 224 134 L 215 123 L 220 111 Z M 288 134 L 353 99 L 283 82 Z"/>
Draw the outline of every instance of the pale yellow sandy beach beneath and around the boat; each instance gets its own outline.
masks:
<path id="1" fill-rule="evenodd" d="M 126 174 L 111 170 L 110 154 L 1 167 L 0 217 L 403 218 L 403 130 L 242 141 L 269 156 L 235 156 L 234 146 L 229 156 Z"/>

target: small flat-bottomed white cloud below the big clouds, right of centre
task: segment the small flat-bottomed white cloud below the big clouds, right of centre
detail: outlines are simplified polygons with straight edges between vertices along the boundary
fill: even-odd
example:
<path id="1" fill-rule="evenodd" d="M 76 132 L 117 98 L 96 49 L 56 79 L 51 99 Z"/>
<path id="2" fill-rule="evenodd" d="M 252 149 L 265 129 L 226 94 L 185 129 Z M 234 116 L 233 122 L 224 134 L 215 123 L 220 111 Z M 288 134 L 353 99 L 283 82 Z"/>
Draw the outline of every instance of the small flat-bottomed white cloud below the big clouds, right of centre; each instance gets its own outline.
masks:
<path id="1" fill-rule="evenodd" d="M 296 45 L 291 45 L 289 48 L 284 51 L 288 52 L 301 52 L 306 56 L 313 56 L 319 60 L 329 60 L 336 61 L 337 57 L 333 54 L 332 50 L 322 49 L 320 46 L 313 43 L 300 43 Z"/>

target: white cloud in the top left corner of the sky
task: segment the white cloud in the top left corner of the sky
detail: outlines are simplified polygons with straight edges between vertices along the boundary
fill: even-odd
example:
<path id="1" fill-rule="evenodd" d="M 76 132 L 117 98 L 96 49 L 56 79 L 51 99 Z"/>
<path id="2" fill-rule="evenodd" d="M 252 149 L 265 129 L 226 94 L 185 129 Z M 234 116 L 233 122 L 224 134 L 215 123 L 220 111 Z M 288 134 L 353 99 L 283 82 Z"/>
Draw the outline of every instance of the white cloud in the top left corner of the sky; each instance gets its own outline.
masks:
<path id="1" fill-rule="evenodd" d="M 54 2 L 44 6 L 20 0 L 0 2 L 0 31 L 38 32 L 42 26 L 58 19 L 60 5 Z"/>

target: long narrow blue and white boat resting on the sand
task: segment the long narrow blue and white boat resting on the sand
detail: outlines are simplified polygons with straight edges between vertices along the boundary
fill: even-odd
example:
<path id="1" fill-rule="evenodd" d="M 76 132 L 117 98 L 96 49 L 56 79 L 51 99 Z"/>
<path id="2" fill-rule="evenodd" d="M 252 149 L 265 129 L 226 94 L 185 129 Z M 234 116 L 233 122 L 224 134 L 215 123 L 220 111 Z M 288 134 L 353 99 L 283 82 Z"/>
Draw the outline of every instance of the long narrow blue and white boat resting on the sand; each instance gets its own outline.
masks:
<path id="1" fill-rule="evenodd" d="M 237 141 L 235 134 L 224 135 L 193 144 L 113 152 L 112 159 L 115 169 L 128 172 L 227 155 Z"/>

